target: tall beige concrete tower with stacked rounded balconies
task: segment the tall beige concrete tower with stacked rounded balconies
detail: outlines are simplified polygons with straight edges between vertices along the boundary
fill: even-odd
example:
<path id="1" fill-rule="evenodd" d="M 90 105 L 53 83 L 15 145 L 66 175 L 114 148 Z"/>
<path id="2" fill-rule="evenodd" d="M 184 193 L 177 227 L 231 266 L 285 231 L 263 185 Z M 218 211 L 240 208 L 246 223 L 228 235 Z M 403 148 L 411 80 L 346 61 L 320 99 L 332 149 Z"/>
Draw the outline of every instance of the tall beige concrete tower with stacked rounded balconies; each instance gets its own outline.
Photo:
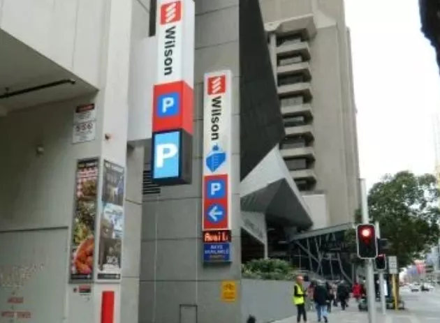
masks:
<path id="1" fill-rule="evenodd" d="M 343 0 L 260 0 L 286 138 L 280 144 L 314 228 L 353 222 L 358 144 Z"/>

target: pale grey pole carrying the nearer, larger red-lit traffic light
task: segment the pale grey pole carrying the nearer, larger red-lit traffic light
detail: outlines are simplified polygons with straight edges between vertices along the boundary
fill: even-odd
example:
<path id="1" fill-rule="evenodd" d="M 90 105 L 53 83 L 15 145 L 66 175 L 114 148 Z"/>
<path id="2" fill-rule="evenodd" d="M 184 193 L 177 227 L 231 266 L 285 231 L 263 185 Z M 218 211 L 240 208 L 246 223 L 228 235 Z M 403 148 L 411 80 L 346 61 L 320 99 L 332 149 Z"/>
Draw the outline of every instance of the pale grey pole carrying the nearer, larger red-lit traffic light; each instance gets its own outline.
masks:
<path id="1" fill-rule="evenodd" d="M 368 200 L 367 200 L 367 185 L 365 179 L 360 179 L 360 200 L 362 209 L 362 223 L 369 223 L 368 216 Z M 374 292 L 374 270 L 373 260 L 365 260 L 366 280 L 367 280 L 367 306 L 368 306 L 368 322 L 376 323 L 376 296 Z"/>

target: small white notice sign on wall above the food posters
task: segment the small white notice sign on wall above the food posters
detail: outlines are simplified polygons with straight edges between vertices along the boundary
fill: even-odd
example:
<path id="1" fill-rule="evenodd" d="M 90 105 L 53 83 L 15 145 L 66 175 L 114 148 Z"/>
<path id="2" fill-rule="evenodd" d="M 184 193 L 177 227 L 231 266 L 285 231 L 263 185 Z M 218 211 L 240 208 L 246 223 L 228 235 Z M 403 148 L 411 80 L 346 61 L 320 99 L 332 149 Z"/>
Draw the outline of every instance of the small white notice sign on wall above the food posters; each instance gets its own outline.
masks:
<path id="1" fill-rule="evenodd" d="M 93 103 L 75 108 L 72 142 L 90 142 L 96 137 L 96 110 Z"/>

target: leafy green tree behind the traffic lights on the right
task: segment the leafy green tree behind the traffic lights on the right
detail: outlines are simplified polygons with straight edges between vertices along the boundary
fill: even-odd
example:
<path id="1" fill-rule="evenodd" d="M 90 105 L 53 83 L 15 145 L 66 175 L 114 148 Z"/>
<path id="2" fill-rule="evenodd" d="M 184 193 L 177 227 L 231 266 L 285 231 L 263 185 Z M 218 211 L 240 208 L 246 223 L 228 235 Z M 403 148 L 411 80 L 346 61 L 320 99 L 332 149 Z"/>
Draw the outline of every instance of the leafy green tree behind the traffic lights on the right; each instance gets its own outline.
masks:
<path id="1" fill-rule="evenodd" d="M 439 241 L 439 197 L 435 176 L 407 171 L 388 174 L 369 190 L 369 217 L 379 221 L 381 237 L 390 242 L 388 254 L 397 255 L 400 267 Z M 355 218 L 360 223 L 359 211 Z M 355 253 L 355 230 L 346 232 L 346 241 Z"/>

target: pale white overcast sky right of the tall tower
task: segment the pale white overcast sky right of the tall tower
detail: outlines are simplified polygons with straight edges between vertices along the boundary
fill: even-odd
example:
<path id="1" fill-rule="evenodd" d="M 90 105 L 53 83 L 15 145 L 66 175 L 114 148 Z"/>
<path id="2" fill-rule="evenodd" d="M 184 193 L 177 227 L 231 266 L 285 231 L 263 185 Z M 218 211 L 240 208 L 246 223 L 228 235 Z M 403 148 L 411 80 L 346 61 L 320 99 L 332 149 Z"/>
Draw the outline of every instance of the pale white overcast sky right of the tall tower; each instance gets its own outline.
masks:
<path id="1" fill-rule="evenodd" d="M 351 30 L 360 175 L 434 172 L 440 74 L 418 0 L 345 0 Z M 439 113 L 437 112 L 437 113 Z"/>

